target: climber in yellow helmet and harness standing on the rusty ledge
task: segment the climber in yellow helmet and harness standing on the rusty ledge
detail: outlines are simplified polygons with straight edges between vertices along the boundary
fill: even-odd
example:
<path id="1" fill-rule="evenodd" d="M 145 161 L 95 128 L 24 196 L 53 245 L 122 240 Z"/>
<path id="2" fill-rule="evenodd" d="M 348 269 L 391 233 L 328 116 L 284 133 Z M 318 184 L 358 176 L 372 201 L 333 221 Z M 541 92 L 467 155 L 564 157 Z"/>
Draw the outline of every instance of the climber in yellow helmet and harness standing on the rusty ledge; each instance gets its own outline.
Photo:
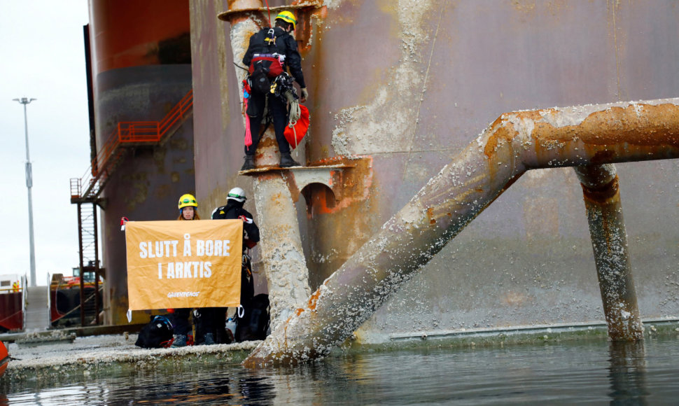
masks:
<path id="1" fill-rule="evenodd" d="M 243 64 L 249 67 L 245 90 L 248 94 L 246 113 L 251 144 L 248 145 L 246 135 L 245 162 L 241 171 L 255 168 L 255 150 L 260 141 L 260 126 L 266 110 L 272 118 L 281 153 L 280 167 L 300 166 L 290 156 L 290 144 L 284 136 L 288 123 L 288 105 L 291 113 L 295 114 L 293 107 L 296 107 L 297 115 L 299 114 L 293 79 L 300 85 L 299 102 L 303 103 L 309 97 L 302 74 L 302 57 L 297 51 L 297 41 L 290 35 L 296 24 L 293 13 L 282 11 L 276 15 L 273 28 L 262 28 L 250 37 Z M 291 76 L 287 73 L 288 69 Z"/>

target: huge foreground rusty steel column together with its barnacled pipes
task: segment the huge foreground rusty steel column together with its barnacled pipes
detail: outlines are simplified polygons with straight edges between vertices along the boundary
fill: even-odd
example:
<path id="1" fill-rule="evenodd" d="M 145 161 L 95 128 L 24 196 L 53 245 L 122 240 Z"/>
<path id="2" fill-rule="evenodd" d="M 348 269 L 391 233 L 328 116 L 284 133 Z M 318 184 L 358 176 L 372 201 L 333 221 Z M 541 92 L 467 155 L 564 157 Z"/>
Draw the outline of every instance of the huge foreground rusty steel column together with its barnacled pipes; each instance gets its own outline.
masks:
<path id="1" fill-rule="evenodd" d="M 267 132 L 241 173 L 234 65 L 269 10 L 189 2 L 197 197 L 216 207 L 244 188 L 262 228 L 255 292 L 278 328 L 249 365 L 322 356 L 349 335 L 605 321 L 612 339 L 638 339 L 642 320 L 679 314 L 672 1 L 267 4 L 297 15 L 306 168 L 278 169 Z"/>

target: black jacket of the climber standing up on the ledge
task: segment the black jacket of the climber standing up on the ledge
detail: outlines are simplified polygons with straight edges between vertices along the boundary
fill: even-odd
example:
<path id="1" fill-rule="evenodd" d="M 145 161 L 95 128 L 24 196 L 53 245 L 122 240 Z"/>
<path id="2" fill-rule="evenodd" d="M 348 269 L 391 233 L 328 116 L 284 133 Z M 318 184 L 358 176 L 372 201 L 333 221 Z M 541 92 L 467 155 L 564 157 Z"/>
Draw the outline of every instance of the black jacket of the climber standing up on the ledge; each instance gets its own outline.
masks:
<path id="1" fill-rule="evenodd" d="M 281 27 L 274 27 L 274 35 L 276 36 L 276 41 L 273 45 L 268 45 L 265 41 L 267 37 L 267 32 L 269 28 L 262 28 L 250 37 L 250 44 L 248 45 L 248 50 L 245 52 L 243 57 L 243 64 L 245 66 L 250 66 L 254 54 L 272 54 L 279 53 L 281 55 L 286 55 L 286 59 L 283 63 L 283 71 L 286 67 L 290 69 L 290 74 L 295 78 L 300 87 L 307 87 L 304 84 L 304 75 L 302 74 L 302 55 L 297 50 L 297 41 L 295 38 L 286 32 Z"/>

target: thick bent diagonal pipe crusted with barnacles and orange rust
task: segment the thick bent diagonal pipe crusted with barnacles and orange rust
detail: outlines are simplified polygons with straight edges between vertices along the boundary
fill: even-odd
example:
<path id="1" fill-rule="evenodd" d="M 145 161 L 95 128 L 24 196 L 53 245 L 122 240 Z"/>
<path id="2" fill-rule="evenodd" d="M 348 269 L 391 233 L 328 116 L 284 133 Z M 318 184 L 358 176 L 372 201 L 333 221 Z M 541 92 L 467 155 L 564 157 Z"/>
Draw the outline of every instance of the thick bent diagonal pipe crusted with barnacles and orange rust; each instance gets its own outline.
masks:
<path id="1" fill-rule="evenodd" d="M 328 354 L 528 169 L 679 158 L 679 99 L 506 113 L 277 328 L 246 366 Z"/>

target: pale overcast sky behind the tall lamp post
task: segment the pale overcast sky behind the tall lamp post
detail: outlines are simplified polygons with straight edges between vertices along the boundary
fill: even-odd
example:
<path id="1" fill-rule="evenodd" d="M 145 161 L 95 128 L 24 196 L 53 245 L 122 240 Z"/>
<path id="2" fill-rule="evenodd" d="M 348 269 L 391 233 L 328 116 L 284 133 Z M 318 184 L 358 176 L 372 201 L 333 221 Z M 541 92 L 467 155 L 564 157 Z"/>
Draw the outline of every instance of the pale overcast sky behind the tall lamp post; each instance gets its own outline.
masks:
<path id="1" fill-rule="evenodd" d="M 83 176 L 89 166 L 87 0 L 0 0 L 0 6 L 0 274 L 30 275 L 24 111 L 12 99 L 34 97 L 27 112 L 36 279 L 45 286 L 48 273 L 70 275 L 78 266 L 69 179 Z"/>

